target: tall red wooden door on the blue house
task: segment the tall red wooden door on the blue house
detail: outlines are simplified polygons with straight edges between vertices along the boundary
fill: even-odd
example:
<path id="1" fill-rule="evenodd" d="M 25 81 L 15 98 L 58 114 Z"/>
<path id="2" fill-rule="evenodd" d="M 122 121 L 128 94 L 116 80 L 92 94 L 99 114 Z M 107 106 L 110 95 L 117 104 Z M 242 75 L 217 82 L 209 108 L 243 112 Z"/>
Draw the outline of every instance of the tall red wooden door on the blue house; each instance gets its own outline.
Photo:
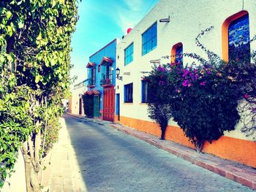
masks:
<path id="1" fill-rule="evenodd" d="M 105 88 L 103 95 L 103 120 L 114 121 L 115 89 Z"/>

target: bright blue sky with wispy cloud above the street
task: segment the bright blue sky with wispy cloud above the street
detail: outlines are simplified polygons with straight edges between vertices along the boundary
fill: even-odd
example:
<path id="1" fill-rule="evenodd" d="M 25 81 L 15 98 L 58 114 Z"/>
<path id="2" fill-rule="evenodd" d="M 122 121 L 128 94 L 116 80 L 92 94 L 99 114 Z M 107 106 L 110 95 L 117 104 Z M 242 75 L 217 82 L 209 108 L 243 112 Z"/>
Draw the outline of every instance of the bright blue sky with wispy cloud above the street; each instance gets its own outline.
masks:
<path id="1" fill-rule="evenodd" d="M 159 0 L 83 0 L 78 4 L 76 31 L 72 35 L 71 77 L 86 78 L 89 56 L 113 39 L 121 39 Z M 73 86 L 73 85 L 72 85 Z"/>

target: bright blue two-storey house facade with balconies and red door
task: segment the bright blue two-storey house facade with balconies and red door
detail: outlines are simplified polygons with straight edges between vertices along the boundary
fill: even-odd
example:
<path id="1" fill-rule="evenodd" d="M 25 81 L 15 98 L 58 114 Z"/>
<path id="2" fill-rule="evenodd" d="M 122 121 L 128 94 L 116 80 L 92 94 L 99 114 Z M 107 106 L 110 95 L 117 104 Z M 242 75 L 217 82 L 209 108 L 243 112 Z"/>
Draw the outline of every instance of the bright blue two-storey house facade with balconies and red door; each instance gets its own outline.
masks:
<path id="1" fill-rule="evenodd" d="M 116 85 L 116 45 L 114 39 L 89 57 L 88 91 L 84 94 L 88 116 L 114 120 Z"/>

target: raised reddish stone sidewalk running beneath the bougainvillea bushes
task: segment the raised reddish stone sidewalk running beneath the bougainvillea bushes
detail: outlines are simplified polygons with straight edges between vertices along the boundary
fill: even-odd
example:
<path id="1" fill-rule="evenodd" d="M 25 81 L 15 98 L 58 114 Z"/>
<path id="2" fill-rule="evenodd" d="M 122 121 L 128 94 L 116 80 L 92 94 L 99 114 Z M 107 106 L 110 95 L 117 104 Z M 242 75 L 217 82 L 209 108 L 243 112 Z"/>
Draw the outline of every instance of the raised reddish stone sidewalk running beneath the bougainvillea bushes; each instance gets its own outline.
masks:
<path id="1" fill-rule="evenodd" d="M 77 118 L 83 118 L 80 115 L 69 115 Z M 244 166 L 243 164 L 238 164 L 233 161 L 218 158 L 217 156 L 211 154 L 197 153 L 195 150 L 192 150 L 189 147 L 184 147 L 182 145 L 176 144 L 175 142 L 167 140 L 160 140 L 154 135 L 146 134 L 134 128 L 122 126 L 119 123 L 112 123 L 95 119 L 91 120 L 93 120 L 94 122 L 104 122 L 106 125 L 118 129 L 118 131 L 122 131 L 126 134 L 132 135 L 133 137 L 142 139 L 145 142 L 148 142 L 151 145 L 154 145 L 155 147 L 158 147 L 162 150 L 166 150 L 167 152 L 172 153 L 179 158 L 184 158 L 192 164 L 201 166 L 204 169 L 208 169 L 211 172 L 222 175 L 222 177 L 226 177 L 227 179 L 236 181 L 238 183 L 241 183 L 242 185 L 246 185 L 247 187 L 256 190 L 256 169 L 252 167 Z"/>

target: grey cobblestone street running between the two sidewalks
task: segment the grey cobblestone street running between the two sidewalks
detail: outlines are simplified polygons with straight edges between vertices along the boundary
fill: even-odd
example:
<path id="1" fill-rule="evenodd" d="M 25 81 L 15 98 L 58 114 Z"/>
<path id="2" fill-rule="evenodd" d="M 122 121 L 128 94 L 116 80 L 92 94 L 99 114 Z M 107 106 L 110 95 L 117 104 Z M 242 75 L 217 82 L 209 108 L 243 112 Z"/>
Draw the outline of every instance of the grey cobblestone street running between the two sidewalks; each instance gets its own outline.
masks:
<path id="1" fill-rule="evenodd" d="M 87 191 L 252 191 L 104 122 L 64 119 Z"/>

